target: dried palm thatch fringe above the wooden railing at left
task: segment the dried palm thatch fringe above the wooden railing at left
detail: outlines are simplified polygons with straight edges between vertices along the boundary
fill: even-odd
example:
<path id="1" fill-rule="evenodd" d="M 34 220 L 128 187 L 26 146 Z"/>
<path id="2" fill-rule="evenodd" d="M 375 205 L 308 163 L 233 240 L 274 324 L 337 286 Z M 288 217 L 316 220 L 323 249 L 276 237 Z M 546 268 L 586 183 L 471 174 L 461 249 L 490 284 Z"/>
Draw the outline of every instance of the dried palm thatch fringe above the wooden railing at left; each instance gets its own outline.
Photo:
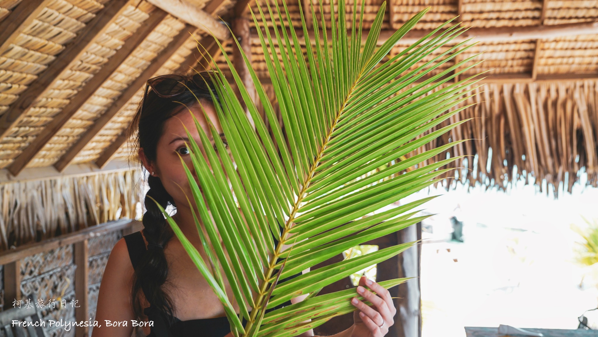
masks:
<path id="1" fill-rule="evenodd" d="M 135 218 L 140 181 L 127 170 L 0 184 L 0 248 Z"/>

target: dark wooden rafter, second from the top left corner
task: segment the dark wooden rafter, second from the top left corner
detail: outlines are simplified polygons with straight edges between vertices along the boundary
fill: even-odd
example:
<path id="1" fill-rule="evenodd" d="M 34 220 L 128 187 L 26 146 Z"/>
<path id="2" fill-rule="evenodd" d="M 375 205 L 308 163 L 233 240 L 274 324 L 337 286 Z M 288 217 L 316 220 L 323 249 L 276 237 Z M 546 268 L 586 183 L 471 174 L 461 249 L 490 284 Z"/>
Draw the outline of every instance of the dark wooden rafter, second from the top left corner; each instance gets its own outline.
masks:
<path id="1" fill-rule="evenodd" d="M 60 78 L 63 71 L 71 68 L 72 63 L 78 60 L 81 54 L 85 53 L 93 43 L 94 38 L 103 34 L 110 23 L 123 13 L 127 5 L 136 5 L 139 1 L 112 0 L 103 10 L 97 13 L 96 17 L 87 23 L 75 40 L 56 57 L 54 62 L 50 63 L 50 66 L 44 72 L 39 74 L 38 78 L 29 85 L 25 92 L 19 95 L 17 101 L 11 104 L 8 111 L 0 116 L 0 139 L 6 136 L 25 117 L 26 111 L 32 102 L 35 102 L 48 87 L 51 87 L 54 81 Z M 28 3 L 28 1 L 23 1 L 21 4 L 23 3 Z M 16 14 L 16 11 L 13 14 Z M 10 21 L 11 17 L 12 14 L 4 22 Z M 1 26 L 2 24 L 0 24 L 0 28 Z"/>

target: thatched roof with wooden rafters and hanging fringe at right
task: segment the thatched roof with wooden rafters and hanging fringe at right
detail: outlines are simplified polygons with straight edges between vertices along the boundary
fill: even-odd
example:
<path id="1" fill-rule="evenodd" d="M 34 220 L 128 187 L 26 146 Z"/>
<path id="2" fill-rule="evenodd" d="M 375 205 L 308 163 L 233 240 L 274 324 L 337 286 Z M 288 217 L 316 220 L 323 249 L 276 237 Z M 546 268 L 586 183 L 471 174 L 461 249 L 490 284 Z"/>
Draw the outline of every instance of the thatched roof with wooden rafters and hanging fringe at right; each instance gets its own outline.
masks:
<path id="1" fill-rule="evenodd" d="M 247 2 L 240 1 L 0 0 L 0 169 L 18 178 L 26 168 L 101 167 L 128 156 L 123 132 L 145 81 L 195 65 L 199 53 L 193 51 L 194 39 L 202 40 L 206 33 L 189 22 L 202 20 L 196 25 L 217 28 L 218 16 L 228 22 L 247 17 Z M 365 29 L 382 4 L 366 1 Z M 288 2 L 292 22 L 300 28 L 298 4 Z M 254 2 L 249 4 L 257 10 Z M 459 163 L 472 169 L 463 177 L 504 187 L 517 165 L 519 174 L 533 172 L 549 183 L 571 186 L 585 166 L 589 183 L 596 186 L 598 1 L 389 0 L 380 39 L 428 6 L 417 31 L 392 53 L 460 14 L 462 25 L 472 27 L 465 35 L 481 41 L 461 57 L 485 51 L 486 59 L 460 77 L 488 69 L 492 75 L 484 80 L 491 91 L 477 96 L 486 102 L 462 113 L 484 118 L 454 133 L 477 138 L 451 151 L 478 154 L 477 169 L 472 160 Z M 347 16 L 352 9 L 347 1 Z M 227 29 L 218 32 L 227 41 Z M 259 41 L 250 42 L 254 69 L 267 83 Z M 453 64 L 447 62 L 437 72 Z M 489 147 L 494 159 L 487 172 Z"/>

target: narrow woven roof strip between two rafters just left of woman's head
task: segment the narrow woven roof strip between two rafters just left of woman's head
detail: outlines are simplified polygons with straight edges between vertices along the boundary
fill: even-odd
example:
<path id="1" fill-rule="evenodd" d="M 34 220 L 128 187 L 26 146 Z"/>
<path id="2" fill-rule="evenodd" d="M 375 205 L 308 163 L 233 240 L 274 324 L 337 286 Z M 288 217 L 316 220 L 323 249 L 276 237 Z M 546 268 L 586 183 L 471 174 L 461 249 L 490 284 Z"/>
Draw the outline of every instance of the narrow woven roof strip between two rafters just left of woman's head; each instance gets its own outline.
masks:
<path id="1" fill-rule="evenodd" d="M 170 59 L 164 63 L 163 66 L 155 72 L 154 76 L 170 74 L 175 72 L 176 69 L 179 68 L 182 62 L 186 59 L 186 57 L 191 54 L 191 50 L 197 48 L 197 40 L 199 40 L 199 36 L 190 37 L 185 43 L 179 47 L 179 49 L 173 54 Z M 201 69 L 197 69 L 201 70 Z M 130 121 L 133 118 L 133 115 L 136 113 L 138 108 L 139 102 L 143 98 L 144 89 L 139 90 L 133 97 L 121 108 L 120 111 L 112 118 L 112 120 L 103 127 L 102 130 L 83 148 L 81 153 L 75 157 L 74 162 L 89 162 L 90 160 L 95 160 L 100 154 L 103 153 L 108 145 L 112 144 L 114 139 L 120 136 L 125 129 L 129 126 Z M 127 144 L 127 143 L 125 143 Z M 123 145 L 121 149 L 127 148 L 128 145 Z M 115 153 L 114 159 L 123 159 L 127 158 L 130 154 L 130 151 L 123 150 L 122 152 Z"/>

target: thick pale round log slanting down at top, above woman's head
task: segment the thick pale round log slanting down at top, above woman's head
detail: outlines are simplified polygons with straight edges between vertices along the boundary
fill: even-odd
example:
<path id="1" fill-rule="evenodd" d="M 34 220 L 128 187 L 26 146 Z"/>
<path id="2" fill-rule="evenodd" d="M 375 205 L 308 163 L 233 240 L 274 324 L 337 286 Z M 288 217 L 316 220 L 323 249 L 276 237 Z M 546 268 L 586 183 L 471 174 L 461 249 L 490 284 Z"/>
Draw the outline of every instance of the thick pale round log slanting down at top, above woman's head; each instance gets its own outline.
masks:
<path id="1" fill-rule="evenodd" d="M 206 11 L 190 4 L 187 0 L 147 0 L 147 2 L 199 28 L 203 32 L 212 34 L 218 40 L 227 40 L 230 37 L 230 31 L 228 31 L 226 25 L 216 20 Z"/>

